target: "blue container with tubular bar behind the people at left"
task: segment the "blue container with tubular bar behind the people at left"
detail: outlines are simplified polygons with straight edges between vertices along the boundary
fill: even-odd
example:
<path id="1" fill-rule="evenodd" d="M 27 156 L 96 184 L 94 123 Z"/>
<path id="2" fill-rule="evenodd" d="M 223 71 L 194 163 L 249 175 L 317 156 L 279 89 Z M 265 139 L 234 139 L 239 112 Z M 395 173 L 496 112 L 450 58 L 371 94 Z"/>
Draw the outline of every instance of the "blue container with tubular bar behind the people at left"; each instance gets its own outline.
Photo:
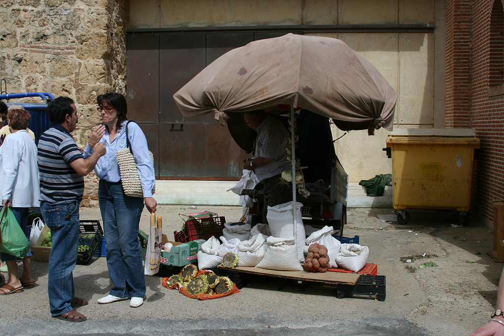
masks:
<path id="1" fill-rule="evenodd" d="M 40 97 L 45 100 L 43 103 L 16 103 L 10 102 L 11 99 L 19 99 L 26 97 Z M 47 102 L 54 99 L 54 96 L 47 92 L 25 92 L 25 93 L 9 93 L 0 95 L 0 100 L 7 100 L 7 106 L 21 105 L 25 110 L 30 112 L 31 118 L 28 123 L 30 128 L 35 134 L 35 144 L 38 145 L 38 139 L 50 126 L 51 121 L 47 114 Z"/>

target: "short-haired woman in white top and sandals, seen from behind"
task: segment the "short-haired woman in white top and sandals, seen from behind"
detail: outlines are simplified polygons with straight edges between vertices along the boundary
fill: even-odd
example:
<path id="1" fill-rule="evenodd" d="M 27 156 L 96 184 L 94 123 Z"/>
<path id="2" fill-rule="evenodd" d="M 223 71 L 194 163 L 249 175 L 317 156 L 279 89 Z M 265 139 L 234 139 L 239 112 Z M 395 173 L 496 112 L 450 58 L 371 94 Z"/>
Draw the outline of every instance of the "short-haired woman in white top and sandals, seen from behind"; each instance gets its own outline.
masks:
<path id="1" fill-rule="evenodd" d="M 12 207 L 16 220 L 29 239 L 28 211 L 40 207 L 37 146 L 26 131 L 30 112 L 19 105 L 13 105 L 9 108 L 8 121 L 11 134 L 0 147 L 2 206 Z M 2 253 L 2 260 L 9 268 L 9 281 L 0 288 L 0 295 L 19 293 L 23 291 L 23 287 L 34 286 L 30 257 L 31 250 L 23 258 L 23 276 L 19 277 L 17 257 Z"/>

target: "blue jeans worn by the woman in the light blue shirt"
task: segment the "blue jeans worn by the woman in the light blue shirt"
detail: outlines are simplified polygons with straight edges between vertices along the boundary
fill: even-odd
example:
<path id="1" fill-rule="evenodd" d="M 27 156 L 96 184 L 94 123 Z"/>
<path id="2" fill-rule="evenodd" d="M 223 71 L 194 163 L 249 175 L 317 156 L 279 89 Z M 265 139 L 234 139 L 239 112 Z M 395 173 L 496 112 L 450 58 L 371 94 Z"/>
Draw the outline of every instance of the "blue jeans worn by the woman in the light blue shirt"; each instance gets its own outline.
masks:
<path id="1" fill-rule="evenodd" d="M 140 215 L 144 199 L 124 195 L 121 182 L 100 180 L 98 187 L 107 266 L 113 287 L 109 294 L 119 297 L 143 297 L 144 267 L 138 241 Z"/>

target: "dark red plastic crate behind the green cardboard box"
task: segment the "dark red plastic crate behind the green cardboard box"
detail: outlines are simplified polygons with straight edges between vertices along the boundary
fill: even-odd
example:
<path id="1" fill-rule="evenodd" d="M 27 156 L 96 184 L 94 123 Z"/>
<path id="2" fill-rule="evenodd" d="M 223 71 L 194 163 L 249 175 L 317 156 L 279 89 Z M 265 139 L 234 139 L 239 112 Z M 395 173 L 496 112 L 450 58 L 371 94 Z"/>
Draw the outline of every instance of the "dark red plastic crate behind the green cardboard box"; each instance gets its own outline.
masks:
<path id="1" fill-rule="evenodd" d="M 226 223 L 226 219 L 223 216 L 191 219 L 185 222 L 181 231 L 174 231 L 173 236 L 175 241 L 179 243 L 187 243 L 196 239 L 208 240 L 212 236 L 218 239 L 222 236 L 224 223 Z"/>

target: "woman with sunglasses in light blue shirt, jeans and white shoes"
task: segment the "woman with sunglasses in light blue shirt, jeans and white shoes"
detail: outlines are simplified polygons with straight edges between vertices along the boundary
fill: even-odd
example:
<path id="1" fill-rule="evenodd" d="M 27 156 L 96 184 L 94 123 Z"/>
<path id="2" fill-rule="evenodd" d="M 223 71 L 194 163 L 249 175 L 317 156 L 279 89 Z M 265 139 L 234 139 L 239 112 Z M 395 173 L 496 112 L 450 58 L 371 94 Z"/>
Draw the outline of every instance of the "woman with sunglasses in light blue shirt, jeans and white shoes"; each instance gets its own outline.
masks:
<path id="1" fill-rule="evenodd" d="M 98 160 L 95 173 L 100 178 L 98 202 L 107 246 L 108 273 L 113 282 L 109 295 L 99 299 L 98 303 L 131 298 L 130 306 L 136 308 L 142 305 L 145 295 L 144 268 L 138 241 L 140 215 L 144 202 L 151 213 L 156 212 L 157 207 L 156 200 L 152 197 L 154 167 L 142 129 L 135 122 L 130 122 L 128 136 L 144 197 L 142 199 L 124 194 L 116 152 L 127 147 L 126 99 L 119 93 L 109 92 L 99 95 L 97 102 L 103 125 L 93 132 L 83 155 L 84 158 L 89 157 L 93 152 L 91 147 L 98 141 L 102 142 L 107 150 L 107 154 Z"/>

